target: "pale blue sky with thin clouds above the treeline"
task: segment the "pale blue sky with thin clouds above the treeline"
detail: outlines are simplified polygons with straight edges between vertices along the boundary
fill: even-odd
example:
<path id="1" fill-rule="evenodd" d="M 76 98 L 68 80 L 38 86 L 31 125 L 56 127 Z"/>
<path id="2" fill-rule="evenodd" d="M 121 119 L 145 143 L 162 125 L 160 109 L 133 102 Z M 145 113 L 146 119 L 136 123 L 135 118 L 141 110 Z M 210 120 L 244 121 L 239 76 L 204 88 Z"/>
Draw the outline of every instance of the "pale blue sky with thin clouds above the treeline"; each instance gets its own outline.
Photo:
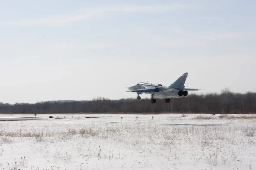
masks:
<path id="1" fill-rule="evenodd" d="M 4 1 L 0 102 L 135 98 L 184 72 L 193 93 L 256 91 L 255 20 L 254 0 Z"/>

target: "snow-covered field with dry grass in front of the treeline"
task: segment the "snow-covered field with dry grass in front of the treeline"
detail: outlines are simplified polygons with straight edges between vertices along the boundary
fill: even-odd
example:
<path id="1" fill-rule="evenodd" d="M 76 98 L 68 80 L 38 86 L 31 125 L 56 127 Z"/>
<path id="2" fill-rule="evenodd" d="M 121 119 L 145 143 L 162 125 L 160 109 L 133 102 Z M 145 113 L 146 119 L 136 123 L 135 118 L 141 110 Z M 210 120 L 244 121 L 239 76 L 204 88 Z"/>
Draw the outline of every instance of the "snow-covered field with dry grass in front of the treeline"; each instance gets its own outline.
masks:
<path id="1" fill-rule="evenodd" d="M 218 116 L 0 115 L 0 170 L 256 169 L 256 116 Z"/>

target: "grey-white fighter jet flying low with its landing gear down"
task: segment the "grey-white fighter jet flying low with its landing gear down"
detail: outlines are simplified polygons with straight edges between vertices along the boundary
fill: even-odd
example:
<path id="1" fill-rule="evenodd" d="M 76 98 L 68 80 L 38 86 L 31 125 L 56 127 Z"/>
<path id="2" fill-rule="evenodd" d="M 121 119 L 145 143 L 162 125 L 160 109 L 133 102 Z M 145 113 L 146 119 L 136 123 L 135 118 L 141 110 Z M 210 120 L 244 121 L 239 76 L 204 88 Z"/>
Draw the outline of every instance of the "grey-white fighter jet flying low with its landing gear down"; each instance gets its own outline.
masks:
<path id="1" fill-rule="evenodd" d="M 174 83 L 168 87 L 161 84 L 151 84 L 147 82 L 138 82 L 137 85 L 128 87 L 126 92 L 137 93 L 137 99 L 140 100 L 140 94 L 151 94 L 151 103 L 156 103 L 155 98 L 165 99 L 166 103 L 170 102 L 170 98 L 180 98 L 188 95 L 188 91 L 198 91 L 199 88 L 185 88 L 184 84 L 188 73 L 184 73 Z"/>

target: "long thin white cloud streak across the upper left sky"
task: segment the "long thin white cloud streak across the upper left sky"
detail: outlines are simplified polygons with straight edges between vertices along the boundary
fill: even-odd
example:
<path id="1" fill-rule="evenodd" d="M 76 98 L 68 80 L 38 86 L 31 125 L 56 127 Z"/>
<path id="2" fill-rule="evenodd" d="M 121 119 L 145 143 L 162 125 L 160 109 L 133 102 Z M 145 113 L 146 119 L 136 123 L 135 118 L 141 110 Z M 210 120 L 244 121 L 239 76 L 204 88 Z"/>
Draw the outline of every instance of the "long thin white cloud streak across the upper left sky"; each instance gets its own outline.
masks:
<path id="1" fill-rule="evenodd" d="M 174 3 L 172 5 L 155 5 L 155 6 L 129 6 L 129 5 L 112 5 L 102 7 L 90 7 L 79 9 L 78 13 L 71 15 L 54 15 L 50 17 L 21 19 L 0 25 L 17 25 L 17 26 L 61 26 L 72 22 L 90 20 L 95 17 L 105 16 L 113 12 L 163 12 L 192 8 L 190 5 Z"/>

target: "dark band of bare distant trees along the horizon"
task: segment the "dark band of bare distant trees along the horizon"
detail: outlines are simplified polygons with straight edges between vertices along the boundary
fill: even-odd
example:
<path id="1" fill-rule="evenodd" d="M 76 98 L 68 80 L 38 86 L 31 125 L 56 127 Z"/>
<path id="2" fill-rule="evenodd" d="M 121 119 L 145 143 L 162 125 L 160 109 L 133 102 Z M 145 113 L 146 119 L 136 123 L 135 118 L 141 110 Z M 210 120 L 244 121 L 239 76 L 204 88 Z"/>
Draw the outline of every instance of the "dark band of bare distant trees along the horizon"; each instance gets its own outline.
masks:
<path id="1" fill-rule="evenodd" d="M 146 95 L 141 95 L 143 96 Z M 0 102 L 0 113 L 256 113 L 256 93 L 233 93 L 224 90 L 220 94 L 189 94 L 180 99 L 110 100 L 97 97 L 90 101 L 49 101 L 35 104 Z"/>

